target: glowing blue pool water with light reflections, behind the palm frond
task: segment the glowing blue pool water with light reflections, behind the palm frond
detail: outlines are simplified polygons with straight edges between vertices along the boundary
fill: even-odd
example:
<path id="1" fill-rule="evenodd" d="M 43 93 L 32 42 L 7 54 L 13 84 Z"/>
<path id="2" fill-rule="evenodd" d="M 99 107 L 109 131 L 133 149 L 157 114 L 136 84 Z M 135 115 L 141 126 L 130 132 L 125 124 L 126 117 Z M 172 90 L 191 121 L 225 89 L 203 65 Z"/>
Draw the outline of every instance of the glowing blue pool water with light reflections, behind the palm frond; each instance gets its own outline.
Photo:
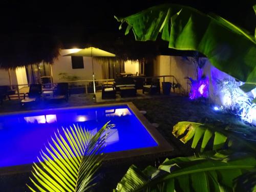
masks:
<path id="1" fill-rule="evenodd" d="M 40 150 L 61 126 L 78 124 L 97 131 L 108 121 L 116 126 L 107 140 L 105 153 L 157 146 L 127 105 L 2 115 L 0 167 L 38 162 Z"/>

